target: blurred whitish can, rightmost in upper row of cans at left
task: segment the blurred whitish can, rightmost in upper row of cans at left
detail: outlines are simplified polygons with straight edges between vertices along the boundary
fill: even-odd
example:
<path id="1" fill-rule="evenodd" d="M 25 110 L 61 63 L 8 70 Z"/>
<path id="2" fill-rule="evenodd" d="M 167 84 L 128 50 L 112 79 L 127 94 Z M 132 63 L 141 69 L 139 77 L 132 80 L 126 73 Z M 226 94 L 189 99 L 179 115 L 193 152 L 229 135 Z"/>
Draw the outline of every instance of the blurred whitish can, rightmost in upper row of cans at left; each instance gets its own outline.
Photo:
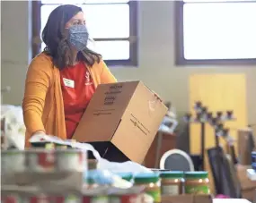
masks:
<path id="1" fill-rule="evenodd" d="M 56 149 L 57 170 L 84 172 L 87 169 L 86 152 L 79 149 Z"/>

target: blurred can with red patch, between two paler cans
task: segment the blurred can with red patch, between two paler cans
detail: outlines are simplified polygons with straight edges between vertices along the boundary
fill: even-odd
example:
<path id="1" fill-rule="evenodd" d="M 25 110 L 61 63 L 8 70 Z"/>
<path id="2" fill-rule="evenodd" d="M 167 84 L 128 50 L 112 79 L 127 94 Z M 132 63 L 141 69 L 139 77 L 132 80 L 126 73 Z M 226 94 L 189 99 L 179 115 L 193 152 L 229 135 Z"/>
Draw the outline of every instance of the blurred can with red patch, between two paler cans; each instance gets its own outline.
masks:
<path id="1" fill-rule="evenodd" d="M 30 172 L 49 173 L 56 169 L 55 150 L 37 148 L 26 151 Z"/>

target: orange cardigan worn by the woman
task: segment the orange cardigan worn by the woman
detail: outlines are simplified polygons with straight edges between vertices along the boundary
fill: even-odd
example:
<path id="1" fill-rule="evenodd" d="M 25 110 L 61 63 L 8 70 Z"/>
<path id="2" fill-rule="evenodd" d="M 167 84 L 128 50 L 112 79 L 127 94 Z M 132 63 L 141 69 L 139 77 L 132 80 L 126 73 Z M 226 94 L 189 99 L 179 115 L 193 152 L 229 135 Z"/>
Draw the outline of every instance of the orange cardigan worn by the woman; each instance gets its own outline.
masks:
<path id="1" fill-rule="evenodd" d="M 102 83 L 116 82 L 106 64 L 101 61 L 89 68 L 95 88 Z M 25 148 L 35 131 L 66 140 L 66 124 L 59 70 L 49 55 L 41 53 L 31 62 L 25 82 L 22 102 L 26 125 Z"/>

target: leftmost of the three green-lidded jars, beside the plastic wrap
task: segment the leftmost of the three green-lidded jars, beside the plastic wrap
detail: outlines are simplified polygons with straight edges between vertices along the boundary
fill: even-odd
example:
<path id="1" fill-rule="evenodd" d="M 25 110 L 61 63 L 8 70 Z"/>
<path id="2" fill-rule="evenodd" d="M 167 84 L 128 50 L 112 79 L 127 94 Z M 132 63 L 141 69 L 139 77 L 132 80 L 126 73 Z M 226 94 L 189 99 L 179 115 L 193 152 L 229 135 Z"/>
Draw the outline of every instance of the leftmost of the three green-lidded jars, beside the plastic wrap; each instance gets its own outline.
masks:
<path id="1" fill-rule="evenodd" d="M 138 173 L 134 184 L 144 186 L 146 194 L 153 197 L 154 202 L 161 202 L 161 182 L 157 173 Z"/>

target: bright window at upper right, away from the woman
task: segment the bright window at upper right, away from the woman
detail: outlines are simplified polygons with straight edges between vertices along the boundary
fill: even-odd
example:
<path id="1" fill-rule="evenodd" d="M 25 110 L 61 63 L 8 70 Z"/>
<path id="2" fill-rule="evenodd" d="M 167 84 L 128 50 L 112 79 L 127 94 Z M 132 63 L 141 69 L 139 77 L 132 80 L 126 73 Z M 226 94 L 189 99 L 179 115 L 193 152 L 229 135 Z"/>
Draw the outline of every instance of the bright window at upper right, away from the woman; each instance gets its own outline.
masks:
<path id="1" fill-rule="evenodd" d="M 176 63 L 256 64 L 255 0 L 176 3 Z"/>

